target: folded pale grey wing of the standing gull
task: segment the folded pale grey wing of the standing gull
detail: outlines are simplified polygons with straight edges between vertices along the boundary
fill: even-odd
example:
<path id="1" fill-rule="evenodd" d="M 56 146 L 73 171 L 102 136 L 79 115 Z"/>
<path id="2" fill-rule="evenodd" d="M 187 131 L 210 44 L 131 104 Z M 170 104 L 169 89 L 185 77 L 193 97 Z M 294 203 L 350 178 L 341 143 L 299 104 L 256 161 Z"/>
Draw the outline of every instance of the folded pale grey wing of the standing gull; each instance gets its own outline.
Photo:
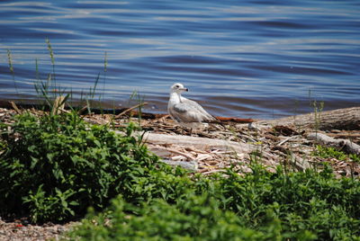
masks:
<path id="1" fill-rule="evenodd" d="M 181 103 L 175 103 L 169 108 L 170 115 L 178 122 L 213 121 L 215 118 L 206 112 L 198 103 L 183 98 Z"/>

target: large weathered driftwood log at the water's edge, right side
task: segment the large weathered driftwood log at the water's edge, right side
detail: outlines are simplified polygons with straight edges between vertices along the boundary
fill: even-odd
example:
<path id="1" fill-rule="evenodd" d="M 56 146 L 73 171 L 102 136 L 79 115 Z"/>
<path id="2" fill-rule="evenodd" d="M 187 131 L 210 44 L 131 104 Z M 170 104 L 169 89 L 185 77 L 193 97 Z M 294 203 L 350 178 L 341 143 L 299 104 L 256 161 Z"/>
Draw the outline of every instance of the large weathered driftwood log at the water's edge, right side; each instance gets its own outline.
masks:
<path id="1" fill-rule="evenodd" d="M 271 121 L 257 121 L 263 125 L 296 126 L 303 129 L 360 129 L 360 107 L 295 115 Z"/>

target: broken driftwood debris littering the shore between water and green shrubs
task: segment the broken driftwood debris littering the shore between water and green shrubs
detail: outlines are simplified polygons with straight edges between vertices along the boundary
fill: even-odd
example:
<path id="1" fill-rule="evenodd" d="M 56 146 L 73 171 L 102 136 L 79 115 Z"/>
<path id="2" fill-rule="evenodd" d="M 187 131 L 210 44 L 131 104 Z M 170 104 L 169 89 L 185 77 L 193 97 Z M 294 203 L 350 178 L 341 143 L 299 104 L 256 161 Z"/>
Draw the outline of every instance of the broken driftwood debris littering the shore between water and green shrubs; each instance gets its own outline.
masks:
<path id="1" fill-rule="evenodd" d="M 231 165 L 247 172 L 251 170 L 248 166 L 253 161 L 254 154 L 260 155 L 257 156 L 257 160 L 266 165 L 269 171 L 274 171 L 276 165 L 303 171 L 311 166 L 319 166 L 327 162 L 333 166 L 334 173 L 338 176 L 359 175 L 360 173 L 360 166 L 351 161 L 348 165 L 347 163 L 339 165 L 339 162 L 335 160 L 324 160 L 313 156 L 318 140 L 309 138 L 309 133 L 313 129 L 308 127 L 302 128 L 286 122 L 272 126 L 266 124 L 266 121 L 257 121 L 249 126 L 248 123 L 241 123 L 239 120 L 231 122 L 229 119 L 220 125 L 209 123 L 206 129 L 190 136 L 186 129 L 176 125 L 173 120 L 166 117 L 166 114 L 141 116 L 141 118 L 128 115 L 137 107 L 139 106 L 134 106 L 130 108 L 131 110 L 127 109 L 129 112 L 119 116 L 121 119 L 115 119 L 115 115 L 110 113 L 87 113 L 83 115 L 83 119 L 93 124 L 107 124 L 115 128 L 126 127 L 129 121 L 137 122 L 146 131 L 143 140 L 147 142 L 150 151 L 163 160 L 171 162 L 196 162 L 197 172 L 206 174 Z M 355 116 L 357 114 L 354 112 L 355 108 L 351 110 L 352 115 Z M 43 114 L 33 109 L 27 111 L 36 115 Z M 0 121 L 14 121 L 12 116 L 17 112 L 0 108 Z M 288 119 L 291 120 L 291 118 Z M 298 119 L 295 117 L 293 120 Z M 275 123 L 275 121 L 270 122 Z M 351 143 L 358 145 L 360 144 L 360 128 L 353 129 L 353 125 L 351 127 L 351 130 L 318 130 L 320 133 L 318 136 L 328 135 L 334 139 L 347 137 Z M 142 132 L 138 133 L 138 135 L 141 134 Z M 347 141 L 341 140 L 340 143 L 346 144 Z M 356 146 L 352 145 L 352 147 Z"/>

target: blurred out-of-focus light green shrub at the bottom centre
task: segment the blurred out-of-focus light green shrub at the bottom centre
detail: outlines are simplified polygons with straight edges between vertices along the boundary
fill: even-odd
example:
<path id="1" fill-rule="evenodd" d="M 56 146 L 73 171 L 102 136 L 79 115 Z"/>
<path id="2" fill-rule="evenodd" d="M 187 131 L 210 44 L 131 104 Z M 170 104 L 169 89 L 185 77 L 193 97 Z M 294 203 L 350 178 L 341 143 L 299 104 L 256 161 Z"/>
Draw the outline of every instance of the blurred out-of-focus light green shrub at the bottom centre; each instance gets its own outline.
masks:
<path id="1" fill-rule="evenodd" d="M 110 221 L 109 221 L 110 220 Z M 107 214 L 91 212 L 69 234 L 76 240 L 280 240 L 279 221 L 264 230 L 242 225 L 231 211 L 219 208 L 209 195 L 190 195 L 176 205 L 163 200 L 134 206 L 121 197 L 112 201 Z"/>

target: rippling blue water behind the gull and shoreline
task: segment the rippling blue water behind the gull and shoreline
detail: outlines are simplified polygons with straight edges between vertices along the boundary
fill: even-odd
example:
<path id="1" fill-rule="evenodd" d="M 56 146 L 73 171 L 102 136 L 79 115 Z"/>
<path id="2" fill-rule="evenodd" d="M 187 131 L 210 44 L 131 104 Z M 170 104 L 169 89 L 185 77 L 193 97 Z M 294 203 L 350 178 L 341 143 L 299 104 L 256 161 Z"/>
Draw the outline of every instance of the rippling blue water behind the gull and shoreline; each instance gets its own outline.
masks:
<path id="1" fill-rule="evenodd" d="M 175 82 L 219 116 L 311 112 L 311 100 L 325 110 L 360 104 L 357 0 L 1 1 L 0 29 L 3 100 L 37 98 L 35 59 L 40 79 L 53 71 L 49 38 L 58 89 L 74 99 L 100 74 L 105 105 L 130 105 L 139 91 L 147 112 L 166 112 Z"/>

